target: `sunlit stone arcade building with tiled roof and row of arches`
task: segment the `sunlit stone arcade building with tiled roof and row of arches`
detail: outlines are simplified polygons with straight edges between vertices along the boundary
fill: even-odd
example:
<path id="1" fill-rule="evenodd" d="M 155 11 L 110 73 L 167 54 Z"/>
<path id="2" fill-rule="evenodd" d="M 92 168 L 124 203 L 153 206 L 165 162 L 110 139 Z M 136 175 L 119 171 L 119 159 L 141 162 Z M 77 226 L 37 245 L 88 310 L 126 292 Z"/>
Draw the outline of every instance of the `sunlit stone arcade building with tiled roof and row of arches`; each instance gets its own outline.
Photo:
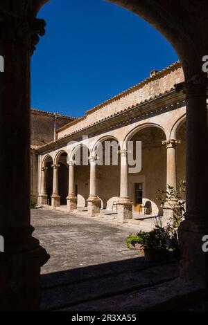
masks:
<path id="1" fill-rule="evenodd" d="M 55 140 L 52 133 L 51 138 L 43 137 L 45 142 L 34 150 L 38 204 L 63 205 L 67 211 L 87 207 L 91 216 L 101 209 L 114 211 L 121 222 L 131 219 L 132 213 L 171 214 L 168 206 L 160 206 L 157 191 L 185 179 L 186 101 L 182 92 L 175 91 L 181 82 L 180 62 L 152 71 L 146 80 L 82 118 L 68 123 L 66 118 L 56 129 Z M 137 143 L 141 143 L 138 157 Z M 131 151 L 141 160 L 140 169 L 130 169 Z M 102 164 L 106 156 L 110 159 Z"/>

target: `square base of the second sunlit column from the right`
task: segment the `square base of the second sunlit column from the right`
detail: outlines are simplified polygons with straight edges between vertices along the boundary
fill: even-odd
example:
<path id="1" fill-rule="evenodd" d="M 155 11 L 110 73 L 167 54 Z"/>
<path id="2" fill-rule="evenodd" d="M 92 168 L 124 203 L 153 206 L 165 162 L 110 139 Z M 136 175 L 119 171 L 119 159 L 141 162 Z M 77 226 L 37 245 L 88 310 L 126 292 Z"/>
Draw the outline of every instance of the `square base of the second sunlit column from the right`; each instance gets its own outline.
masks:
<path id="1" fill-rule="evenodd" d="M 132 219 L 132 201 L 130 198 L 120 198 L 117 203 L 118 217 L 117 220 L 121 223 L 127 223 Z"/>

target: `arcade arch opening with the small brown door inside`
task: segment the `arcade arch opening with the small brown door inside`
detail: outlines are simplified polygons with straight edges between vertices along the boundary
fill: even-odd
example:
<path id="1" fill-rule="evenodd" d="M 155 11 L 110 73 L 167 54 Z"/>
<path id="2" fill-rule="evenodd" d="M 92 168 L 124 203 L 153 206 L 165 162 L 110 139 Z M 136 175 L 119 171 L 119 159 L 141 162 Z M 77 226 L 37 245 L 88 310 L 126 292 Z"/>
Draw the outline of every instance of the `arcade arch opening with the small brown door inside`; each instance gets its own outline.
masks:
<path id="1" fill-rule="evenodd" d="M 159 127 L 146 127 L 130 136 L 134 160 L 136 143 L 141 141 L 141 171 L 129 174 L 129 192 L 135 214 L 162 215 L 157 201 L 158 189 L 166 189 L 166 147 L 162 141 L 165 133 Z"/>

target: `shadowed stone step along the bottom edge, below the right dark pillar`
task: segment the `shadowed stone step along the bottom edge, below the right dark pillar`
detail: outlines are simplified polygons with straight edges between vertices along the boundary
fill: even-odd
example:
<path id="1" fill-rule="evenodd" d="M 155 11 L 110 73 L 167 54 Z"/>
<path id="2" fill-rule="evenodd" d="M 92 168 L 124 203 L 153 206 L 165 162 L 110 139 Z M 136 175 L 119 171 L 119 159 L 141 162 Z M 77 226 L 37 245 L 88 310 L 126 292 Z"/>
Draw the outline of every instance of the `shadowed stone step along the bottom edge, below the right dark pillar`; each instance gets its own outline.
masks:
<path id="1" fill-rule="evenodd" d="M 177 277 L 171 281 L 164 281 L 141 290 L 135 290 L 125 295 L 115 295 L 94 301 L 87 301 L 77 306 L 62 308 L 59 311 L 148 311 L 148 310 L 189 310 L 190 304 L 195 303 L 192 310 L 196 308 L 196 302 L 204 297 L 205 290 L 195 284 L 184 281 Z M 200 304 L 199 304 L 200 306 Z M 207 311 L 206 303 L 202 303 L 202 310 Z M 196 309 L 194 309 L 194 307 Z"/>

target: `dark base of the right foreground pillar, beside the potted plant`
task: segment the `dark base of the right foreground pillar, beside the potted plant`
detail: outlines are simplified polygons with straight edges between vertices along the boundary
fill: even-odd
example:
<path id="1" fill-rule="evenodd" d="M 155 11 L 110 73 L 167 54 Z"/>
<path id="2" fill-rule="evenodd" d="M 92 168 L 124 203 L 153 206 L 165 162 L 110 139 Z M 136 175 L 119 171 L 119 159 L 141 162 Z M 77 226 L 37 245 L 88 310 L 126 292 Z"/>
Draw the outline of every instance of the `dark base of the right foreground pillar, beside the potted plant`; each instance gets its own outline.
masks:
<path id="1" fill-rule="evenodd" d="M 182 251 L 180 277 L 195 281 L 208 290 L 208 239 L 207 243 L 202 241 L 203 236 L 208 236 L 207 216 L 186 218 L 178 230 Z"/>

